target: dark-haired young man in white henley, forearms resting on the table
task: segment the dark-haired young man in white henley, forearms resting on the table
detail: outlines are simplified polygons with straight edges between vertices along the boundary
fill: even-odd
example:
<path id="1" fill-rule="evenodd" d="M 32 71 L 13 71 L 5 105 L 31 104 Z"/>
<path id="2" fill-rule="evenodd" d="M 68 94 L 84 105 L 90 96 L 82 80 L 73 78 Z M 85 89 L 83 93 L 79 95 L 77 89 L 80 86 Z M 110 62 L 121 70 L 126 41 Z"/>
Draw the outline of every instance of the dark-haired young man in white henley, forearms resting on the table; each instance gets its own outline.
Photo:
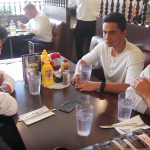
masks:
<path id="1" fill-rule="evenodd" d="M 138 77 L 144 67 L 141 50 L 128 42 L 126 36 L 127 22 L 121 13 L 110 13 L 103 18 L 103 38 L 90 53 L 77 63 L 72 84 L 80 91 L 101 91 L 122 93 L 130 86 L 131 77 Z M 101 61 L 106 82 L 80 82 L 80 65 L 95 64 Z"/>

